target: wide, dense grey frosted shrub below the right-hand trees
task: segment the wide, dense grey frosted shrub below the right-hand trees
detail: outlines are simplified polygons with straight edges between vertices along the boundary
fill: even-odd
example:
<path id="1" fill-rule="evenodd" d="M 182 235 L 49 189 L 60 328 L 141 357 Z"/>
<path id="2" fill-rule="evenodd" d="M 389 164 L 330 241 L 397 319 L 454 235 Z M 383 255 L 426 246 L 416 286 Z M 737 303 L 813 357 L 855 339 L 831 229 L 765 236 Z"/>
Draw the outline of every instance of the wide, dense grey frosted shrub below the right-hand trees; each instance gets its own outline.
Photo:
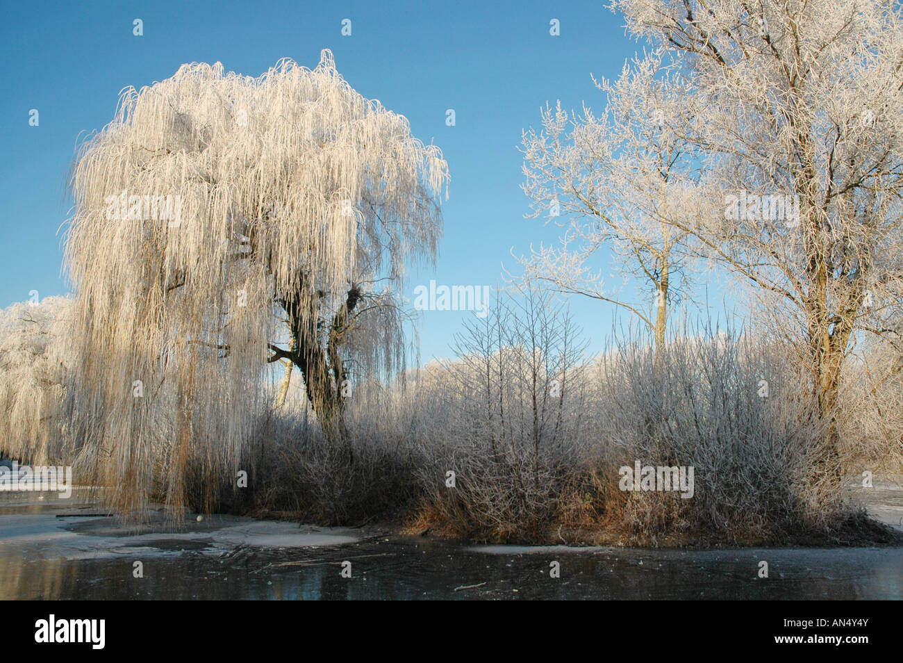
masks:
<path id="1" fill-rule="evenodd" d="M 796 536 L 836 523 L 842 495 L 814 459 L 824 439 L 805 376 L 749 334 L 684 336 L 656 357 L 621 341 L 599 364 L 599 466 L 694 468 L 694 494 L 623 491 L 604 509 L 638 540 Z M 612 491 L 606 495 L 612 497 Z"/>

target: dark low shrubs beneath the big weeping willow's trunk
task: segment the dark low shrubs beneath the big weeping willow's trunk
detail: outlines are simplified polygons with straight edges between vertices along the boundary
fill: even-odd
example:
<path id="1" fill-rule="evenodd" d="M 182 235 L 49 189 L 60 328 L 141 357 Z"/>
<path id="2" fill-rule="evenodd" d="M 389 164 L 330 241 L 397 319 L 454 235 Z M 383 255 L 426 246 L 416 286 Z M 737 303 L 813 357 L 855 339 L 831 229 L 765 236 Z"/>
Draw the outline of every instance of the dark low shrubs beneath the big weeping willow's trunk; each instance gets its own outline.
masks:
<path id="1" fill-rule="evenodd" d="M 392 387 L 374 381 L 349 398 L 350 463 L 309 405 L 274 408 L 247 453 L 250 490 L 230 492 L 229 506 L 321 525 L 401 518 L 413 509 L 423 461 L 411 434 L 415 401 L 400 383 Z"/>

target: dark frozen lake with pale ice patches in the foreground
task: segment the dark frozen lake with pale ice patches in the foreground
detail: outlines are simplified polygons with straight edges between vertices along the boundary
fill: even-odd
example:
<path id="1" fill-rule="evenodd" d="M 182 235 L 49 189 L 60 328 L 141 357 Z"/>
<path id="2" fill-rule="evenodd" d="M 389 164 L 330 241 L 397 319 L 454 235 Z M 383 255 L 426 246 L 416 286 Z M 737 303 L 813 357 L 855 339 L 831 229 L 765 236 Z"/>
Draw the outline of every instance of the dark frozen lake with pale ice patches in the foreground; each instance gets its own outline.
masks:
<path id="1" fill-rule="evenodd" d="M 0 599 L 903 599 L 903 547 L 474 546 L 230 516 L 136 534 L 79 494 L 0 493 Z M 863 500 L 903 530 L 897 483 Z"/>

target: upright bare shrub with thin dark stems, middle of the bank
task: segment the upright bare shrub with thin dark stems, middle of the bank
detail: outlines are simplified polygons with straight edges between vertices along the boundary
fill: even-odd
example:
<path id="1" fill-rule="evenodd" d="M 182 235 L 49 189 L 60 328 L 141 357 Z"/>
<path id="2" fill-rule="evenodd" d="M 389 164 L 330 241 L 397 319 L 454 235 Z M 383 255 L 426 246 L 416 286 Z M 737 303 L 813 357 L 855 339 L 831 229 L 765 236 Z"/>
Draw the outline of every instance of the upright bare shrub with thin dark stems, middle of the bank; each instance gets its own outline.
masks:
<path id="1" fill-rule="evenodd" d="M 426 505 L 461 534 L 535 537 L 552 518 L 580 437 L 582 349 L 547 291 L 514 286 L 456 337 L 427 452 Z M 446 484 L 454 472 L 454 487 Z"/>

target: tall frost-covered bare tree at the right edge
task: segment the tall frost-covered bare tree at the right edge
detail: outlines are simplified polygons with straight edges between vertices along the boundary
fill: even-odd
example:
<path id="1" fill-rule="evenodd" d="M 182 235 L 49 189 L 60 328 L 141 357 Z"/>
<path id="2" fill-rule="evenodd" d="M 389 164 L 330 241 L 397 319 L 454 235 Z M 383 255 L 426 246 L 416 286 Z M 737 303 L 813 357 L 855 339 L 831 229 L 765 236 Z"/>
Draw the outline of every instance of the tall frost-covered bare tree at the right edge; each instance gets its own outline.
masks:
<path id="1" fill-rule="evenodd" d="M 903 26 L 885 0 L 614 0 L 687 71 L 681 130 L 709 160 L 692 232 L 758 286 L 832 419 L 855 335 L 903 295 Z M 719 200 L 720 199 L 720 200 Z M 719 209 L 719 205 L 721 206 Z M 837 476 L 837 435 L 822 471 Z"/>

